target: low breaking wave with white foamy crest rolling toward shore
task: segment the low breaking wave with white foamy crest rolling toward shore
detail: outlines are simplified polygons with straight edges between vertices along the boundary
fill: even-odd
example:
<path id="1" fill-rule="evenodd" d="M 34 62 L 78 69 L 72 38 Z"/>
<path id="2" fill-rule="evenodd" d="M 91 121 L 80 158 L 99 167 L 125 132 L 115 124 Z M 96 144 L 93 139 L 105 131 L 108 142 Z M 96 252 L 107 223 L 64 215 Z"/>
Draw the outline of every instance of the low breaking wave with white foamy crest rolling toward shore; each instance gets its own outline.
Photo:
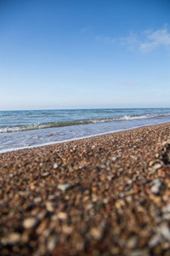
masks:
<path id="1" fill-rule="evenodd" d="M 51 123 L 43 123 L 43 124 L 20 125 L 20 126 L 0 128 L 0 133 L 31 131 L 31 130 L 38 130 L 38 129 L 71 126 L 71 125 L 99 124 L 99 123 L 127 121 L 127 120 L 135 120 L 135 119 L 151 119 L 151 118 L 158 118 L 158 117 L 165 117 L 165 116 L 170 116 L 170 113 L 124 115 L 122 117 L 110 117 L 110 118 L 103 118 L 103 119 L 82 119 L 82 120 L 67 121 L 67 122 L 51 122 Z"/>

